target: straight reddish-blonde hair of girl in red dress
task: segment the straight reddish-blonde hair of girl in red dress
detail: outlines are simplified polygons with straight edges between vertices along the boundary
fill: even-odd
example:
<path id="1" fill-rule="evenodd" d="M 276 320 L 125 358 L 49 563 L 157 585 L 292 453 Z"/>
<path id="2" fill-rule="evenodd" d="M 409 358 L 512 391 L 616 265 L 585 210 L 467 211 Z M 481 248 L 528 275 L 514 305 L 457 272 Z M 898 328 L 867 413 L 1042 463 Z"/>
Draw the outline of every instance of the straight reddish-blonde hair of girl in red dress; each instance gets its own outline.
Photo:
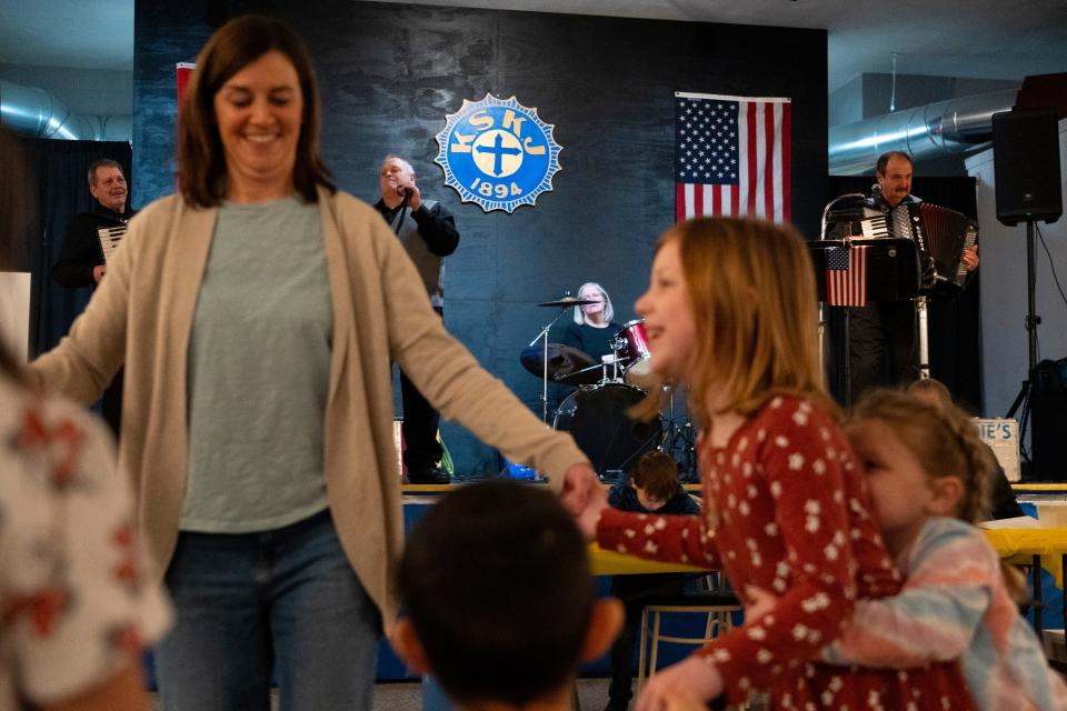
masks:
<path id="1" fill-rule="evenodd" d="M 815 397 L 834 414 L 818 348 L 815 270 L 800 234 L 762 220 L 701 218 L 676 224 L 698 333 L 690 403 L 707 422 L 704 395 L 725 388 L 724 408 L 747 414 L 774 392 Z"/>

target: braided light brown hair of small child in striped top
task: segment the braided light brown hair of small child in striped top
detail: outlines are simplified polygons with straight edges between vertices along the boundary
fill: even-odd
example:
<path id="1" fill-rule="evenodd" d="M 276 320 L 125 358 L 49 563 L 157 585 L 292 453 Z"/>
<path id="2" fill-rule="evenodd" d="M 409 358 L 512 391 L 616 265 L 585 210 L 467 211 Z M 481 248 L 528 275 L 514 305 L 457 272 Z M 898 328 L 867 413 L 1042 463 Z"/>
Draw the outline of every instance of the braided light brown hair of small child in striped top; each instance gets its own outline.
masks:
<path id="1" fill-rule="evenodd" d="M 964 483 L 959 519 L 979 523 L 988 518 L 996 459 L 966 412 L 951 402 L 934 404 L 909 392 L 876 389 L 859 399 L 851 417 L 882 422 L 931 479 L 958 477 Z"/>

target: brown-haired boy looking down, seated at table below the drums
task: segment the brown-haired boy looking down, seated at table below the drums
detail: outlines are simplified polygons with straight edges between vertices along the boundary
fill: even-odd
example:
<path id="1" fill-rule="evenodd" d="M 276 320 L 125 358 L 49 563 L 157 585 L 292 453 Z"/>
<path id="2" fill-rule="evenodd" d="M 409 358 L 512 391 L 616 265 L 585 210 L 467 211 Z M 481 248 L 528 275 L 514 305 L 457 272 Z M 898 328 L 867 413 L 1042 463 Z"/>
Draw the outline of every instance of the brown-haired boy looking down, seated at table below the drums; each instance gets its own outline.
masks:
<path id="1" fill-rule="evenodd" d="M 694 515 L 700 512 L 697 502 L 686 493 L 678 479 L 675 460 L 659 450 L 652 450 L 638 460 L 632 478 L 624 478 L 612 484 L 608 492 L 608 504 L 620 511 L 638 513 Z M 681 573 L 616 575 L 611 580 L 611 594 L 626 605 L 626 622 L 622 634 L 611 645 L 611 685 L 608 688 L 605 711 L 626 711 L 629 705 L 634 645 L 641 623 L 641 609 L 651 598 L 680 594 L 684 587 L 685 577 Z"/>

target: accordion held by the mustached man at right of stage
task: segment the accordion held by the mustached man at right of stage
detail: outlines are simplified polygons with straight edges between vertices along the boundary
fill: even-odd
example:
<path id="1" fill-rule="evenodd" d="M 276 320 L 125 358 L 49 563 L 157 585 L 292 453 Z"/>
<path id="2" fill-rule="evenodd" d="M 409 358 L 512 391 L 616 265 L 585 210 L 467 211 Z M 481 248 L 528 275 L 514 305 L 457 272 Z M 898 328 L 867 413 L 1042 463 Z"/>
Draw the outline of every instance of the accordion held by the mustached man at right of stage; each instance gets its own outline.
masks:
<path id="1" fill-rule="evenodd" d="M 846 232 L 840 237 L 895 237 L 918 246 L 923 259 L 921 293 L 954 297 L 964 288 L 964 250 L 978 240 L 978 224 L 967 216 L 933 202 L 901 202 L 888 214 L 871 208 L 854 208 L 849 212 L 832 216 L 845 222 L 839 224 Z"/>

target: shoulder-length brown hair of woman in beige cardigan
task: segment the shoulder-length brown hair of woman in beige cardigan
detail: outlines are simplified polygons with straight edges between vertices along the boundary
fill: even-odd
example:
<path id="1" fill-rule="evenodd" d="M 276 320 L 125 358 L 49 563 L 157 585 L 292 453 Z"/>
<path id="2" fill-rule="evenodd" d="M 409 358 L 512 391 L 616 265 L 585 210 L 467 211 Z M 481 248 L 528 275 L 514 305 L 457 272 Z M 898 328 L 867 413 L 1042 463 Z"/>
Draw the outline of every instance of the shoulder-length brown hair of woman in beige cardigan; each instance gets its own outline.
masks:
<path id="1" fill-rule="evenodd" d="M 317 187 L 336 190 L 319 154 L 319 88 L 303 42 L 286 22 L 246 14 L 230 20 L 200 50 L 189 78 L 178 121 L 178 178 L 186 202 L 210 208 L 226 197 L 227 168 L 215 116 L 215 94 L 241 69 L 270 51 L 292 62 L 303 94 L 303 119 L 297 142 L 293 184 L 308 202 L 318 201 Z"/>

